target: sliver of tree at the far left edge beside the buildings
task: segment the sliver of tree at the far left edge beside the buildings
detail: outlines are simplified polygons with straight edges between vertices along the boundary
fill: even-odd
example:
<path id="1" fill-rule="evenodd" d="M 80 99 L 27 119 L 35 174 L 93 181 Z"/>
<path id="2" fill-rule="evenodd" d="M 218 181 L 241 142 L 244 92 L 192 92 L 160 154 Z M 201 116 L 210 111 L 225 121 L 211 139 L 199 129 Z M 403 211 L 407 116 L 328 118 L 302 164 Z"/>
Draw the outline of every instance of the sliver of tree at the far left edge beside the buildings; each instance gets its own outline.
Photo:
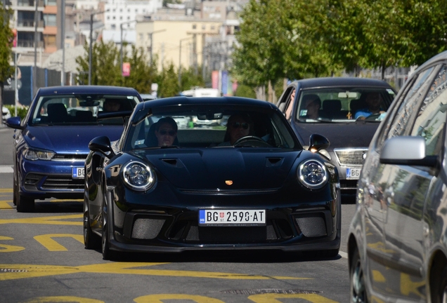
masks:
<path id="1" fill-rule="evenodd" d="M 11 65 L 14 34 L 9 27 L 9 20 L 12 17 L 11 8 L 4 8 L 0 4 L 0 109 L 3 106 L 4 82 L 14 74 L 15 70 Z"/>

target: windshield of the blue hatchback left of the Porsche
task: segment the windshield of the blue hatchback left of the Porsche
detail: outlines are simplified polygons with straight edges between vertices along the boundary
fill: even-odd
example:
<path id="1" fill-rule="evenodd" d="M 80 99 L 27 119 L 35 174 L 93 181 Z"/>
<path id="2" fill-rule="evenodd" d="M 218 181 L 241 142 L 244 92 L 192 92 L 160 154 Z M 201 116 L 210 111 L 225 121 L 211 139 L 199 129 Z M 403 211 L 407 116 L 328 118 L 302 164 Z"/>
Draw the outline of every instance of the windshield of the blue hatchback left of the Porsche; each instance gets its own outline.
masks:
<path id="1" fill-rule="evenodd" d="M 33 126 L 122 125 L 122 118 L 98 120 L 98 113 L 131 111 L 138 102 L 134 95 L 48 95 L 39 97 L 30 114 Z"/>

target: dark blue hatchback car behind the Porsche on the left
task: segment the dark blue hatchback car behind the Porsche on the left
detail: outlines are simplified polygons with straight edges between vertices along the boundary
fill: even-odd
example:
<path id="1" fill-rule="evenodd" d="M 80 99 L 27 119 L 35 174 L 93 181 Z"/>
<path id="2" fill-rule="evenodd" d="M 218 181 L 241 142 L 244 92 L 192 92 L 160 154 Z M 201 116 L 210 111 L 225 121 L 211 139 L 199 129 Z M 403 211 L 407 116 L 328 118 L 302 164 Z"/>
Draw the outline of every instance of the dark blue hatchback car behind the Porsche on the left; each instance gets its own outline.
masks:
<path id="1" fill-rule="evenodd" d="M 118 140 L 119 113 L 131 112 L 141 97 L 133 88 L 60 86 L 40 88 L 25 119 L 6 125 L 13 135 L 13 203 L 34 211 L 34 200 L 83 198 L 89 142 L 98 135 Z"/>

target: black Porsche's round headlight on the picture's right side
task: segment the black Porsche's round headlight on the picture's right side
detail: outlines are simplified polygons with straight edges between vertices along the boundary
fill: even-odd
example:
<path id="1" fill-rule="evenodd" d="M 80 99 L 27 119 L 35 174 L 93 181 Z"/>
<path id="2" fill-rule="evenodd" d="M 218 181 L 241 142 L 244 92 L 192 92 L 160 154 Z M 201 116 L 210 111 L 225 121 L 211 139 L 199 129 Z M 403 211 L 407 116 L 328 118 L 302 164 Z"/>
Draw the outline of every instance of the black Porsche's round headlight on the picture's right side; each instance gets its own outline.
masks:
<path id="1" fill-rule="evenodd" d="M 328 182 L 328 170 L 320 161 L 307 159 L 299 164 L 297 177 L 305 187 L 320 189 Z"/>

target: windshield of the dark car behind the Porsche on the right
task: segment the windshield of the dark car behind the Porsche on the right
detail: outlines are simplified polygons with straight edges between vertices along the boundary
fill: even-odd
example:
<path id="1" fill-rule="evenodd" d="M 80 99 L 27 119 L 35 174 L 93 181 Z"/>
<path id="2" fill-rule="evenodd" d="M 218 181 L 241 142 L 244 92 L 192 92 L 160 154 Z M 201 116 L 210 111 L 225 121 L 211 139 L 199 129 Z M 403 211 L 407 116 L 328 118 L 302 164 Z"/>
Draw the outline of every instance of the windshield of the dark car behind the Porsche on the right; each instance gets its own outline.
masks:
<path id="1" fill-rule="evenodd" d="M 394 97 L 394 91 L 389 88 L 302 90 L 294 116 L 304 123 L 382 121 Z"/>

